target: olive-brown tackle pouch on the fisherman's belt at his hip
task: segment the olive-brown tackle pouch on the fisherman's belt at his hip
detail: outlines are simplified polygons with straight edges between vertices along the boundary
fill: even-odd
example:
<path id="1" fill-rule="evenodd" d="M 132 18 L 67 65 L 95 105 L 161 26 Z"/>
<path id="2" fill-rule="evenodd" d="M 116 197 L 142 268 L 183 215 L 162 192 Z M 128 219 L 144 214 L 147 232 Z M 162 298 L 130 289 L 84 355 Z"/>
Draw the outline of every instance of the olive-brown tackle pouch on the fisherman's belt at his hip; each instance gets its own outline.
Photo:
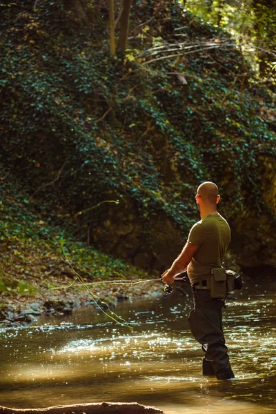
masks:
<path id="1" fill-rule="evenodd" d="M 210 297 L 224 299 L 228 293 L 242 289 L 242 277 L 233 270 L 213 268 L 210 270 Z"/>

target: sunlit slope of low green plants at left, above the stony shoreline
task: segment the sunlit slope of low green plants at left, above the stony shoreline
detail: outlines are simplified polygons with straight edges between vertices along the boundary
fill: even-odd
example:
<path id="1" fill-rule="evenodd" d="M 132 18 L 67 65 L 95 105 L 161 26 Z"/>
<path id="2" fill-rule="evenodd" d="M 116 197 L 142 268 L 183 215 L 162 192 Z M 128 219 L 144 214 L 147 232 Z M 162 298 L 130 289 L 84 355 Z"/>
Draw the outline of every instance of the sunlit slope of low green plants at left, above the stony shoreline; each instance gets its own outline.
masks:
<path id="1" fill-rule="evenodd" d="M 41 287 L 58 286 L 61 277 L 94 280 L 143 278 L 147 275 L 120 259 L 105 255 L 74 236 L 55 213 L 43 213 L 28 191 L 0 164 L 0 294 L 34 295 Z M 71 266 L 73 266 L 73 270 Z M 0 306 L 1 311 L 1 306 Z M 1 317 L 0 317 L 1 319 Z"/>

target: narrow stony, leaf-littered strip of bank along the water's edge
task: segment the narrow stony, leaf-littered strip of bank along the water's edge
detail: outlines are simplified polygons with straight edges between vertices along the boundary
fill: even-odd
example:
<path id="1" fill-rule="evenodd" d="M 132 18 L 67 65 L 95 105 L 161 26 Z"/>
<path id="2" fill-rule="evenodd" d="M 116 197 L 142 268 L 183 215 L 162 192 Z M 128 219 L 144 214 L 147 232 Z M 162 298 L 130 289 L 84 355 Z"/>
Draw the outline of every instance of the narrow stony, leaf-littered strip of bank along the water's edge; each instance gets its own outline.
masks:
<path id="1" fill-rule="evenodd" d="M 0 328 L 28 326 L 41 315 L 68 315 L 73 308 L 92 304 L 95 308 L 113 309 L 118 302 L 130 297 L 141 297 L 161 293 L 161 282 L 139 284 L 90 284 L 88 290 L 81 284 L 73 284 L 70 277 L 63 276 L 55 286 L 49 288 L 39 283 L 35 295 L 0 294 Z M 72 286 L 71 286 L 72 285 Z M 102 304 L 101 302 L 105 302 Z M 107 306 L 107 305 L 108 306 Z"/>

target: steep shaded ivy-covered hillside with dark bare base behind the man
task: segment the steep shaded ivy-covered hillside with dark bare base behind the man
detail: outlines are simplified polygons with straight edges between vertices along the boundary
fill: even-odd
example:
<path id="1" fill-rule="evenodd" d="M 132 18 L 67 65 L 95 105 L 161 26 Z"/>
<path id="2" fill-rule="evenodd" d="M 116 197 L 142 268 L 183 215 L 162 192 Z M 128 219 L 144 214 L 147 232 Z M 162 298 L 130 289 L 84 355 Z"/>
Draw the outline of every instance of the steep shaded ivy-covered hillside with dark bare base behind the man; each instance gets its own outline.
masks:
<path id="1" fill-rule="evenodd" d="M 130 48 L 113 58 L 97 1 L 82 21 L 62 1 L 36 3 L 3 8 L 0 159 L 41 213 L 162 269 L 211 180 L 239 264 L 276 266 L 274 101 L 233 40 L 177 1 L 136 1 Z M 106 199 L 119 204 L 90 210 Z"/>

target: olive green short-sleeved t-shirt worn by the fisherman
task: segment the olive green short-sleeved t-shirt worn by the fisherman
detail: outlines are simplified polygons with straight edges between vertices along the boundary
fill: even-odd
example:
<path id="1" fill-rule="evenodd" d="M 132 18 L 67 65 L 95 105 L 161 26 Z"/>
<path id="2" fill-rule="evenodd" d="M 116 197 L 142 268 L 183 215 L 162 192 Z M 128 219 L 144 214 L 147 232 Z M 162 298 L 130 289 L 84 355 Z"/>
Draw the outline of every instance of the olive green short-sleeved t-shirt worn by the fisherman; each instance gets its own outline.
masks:
<path id="1" fill-rule="evenodd" d="M 190 283 L 199 282 L 210 275 L 210 269 L 221 267 L 230 242 L 230 228 L 219 213 L 207 215 L 190 229 L 188 243 L 199 248 L 188 265 Z"/>

